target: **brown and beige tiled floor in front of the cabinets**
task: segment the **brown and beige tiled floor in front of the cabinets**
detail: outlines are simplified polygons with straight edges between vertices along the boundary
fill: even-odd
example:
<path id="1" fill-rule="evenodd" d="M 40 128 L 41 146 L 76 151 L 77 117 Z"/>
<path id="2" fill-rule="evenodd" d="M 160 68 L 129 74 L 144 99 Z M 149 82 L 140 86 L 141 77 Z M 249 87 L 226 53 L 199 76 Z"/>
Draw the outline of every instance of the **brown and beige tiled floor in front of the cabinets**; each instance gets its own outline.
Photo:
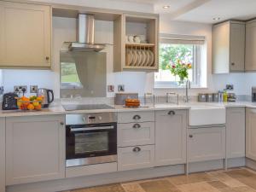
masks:
<path id="1" fill-rule="evenodd" d="M 201 172 L 130 183 L 75 189 L 71 192 L 256 192 L 256 172 L 247 168 Z"/>

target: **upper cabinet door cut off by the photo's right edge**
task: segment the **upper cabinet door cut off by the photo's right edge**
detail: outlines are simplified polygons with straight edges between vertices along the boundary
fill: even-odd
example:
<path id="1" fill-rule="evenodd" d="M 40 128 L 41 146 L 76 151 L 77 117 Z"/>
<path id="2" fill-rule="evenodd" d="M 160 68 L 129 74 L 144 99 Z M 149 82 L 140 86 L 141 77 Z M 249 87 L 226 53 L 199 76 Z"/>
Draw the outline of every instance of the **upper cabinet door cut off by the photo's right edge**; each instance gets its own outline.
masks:
<path id="1" fill-rule="evenodd" d="M 246 71 L 256 70 L 256 20 L 247 22 L 246 25 Z"/>

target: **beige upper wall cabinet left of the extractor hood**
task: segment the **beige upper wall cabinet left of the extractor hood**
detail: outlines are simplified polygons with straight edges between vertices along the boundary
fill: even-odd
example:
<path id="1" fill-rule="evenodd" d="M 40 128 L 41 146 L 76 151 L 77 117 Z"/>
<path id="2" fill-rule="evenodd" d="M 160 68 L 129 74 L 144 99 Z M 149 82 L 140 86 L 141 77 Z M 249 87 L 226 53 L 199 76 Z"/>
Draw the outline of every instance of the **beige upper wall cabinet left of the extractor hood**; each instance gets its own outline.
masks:
<path id="1" fill-rule="evenodd" d="M 0 67 L 49 68 L 50 6 L 0 1 Z"/>

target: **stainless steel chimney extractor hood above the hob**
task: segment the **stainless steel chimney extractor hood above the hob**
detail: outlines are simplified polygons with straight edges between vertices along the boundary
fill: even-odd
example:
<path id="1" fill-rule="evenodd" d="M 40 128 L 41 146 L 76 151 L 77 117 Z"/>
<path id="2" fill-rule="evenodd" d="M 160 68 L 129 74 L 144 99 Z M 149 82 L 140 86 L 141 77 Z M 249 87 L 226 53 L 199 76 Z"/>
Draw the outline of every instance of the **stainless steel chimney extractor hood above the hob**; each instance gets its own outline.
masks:
<path id="1" fill-rule="evenodd" d="M 105 48 L 105 44 L 95 44 L 95 18 L 94 15 L 79 14 L 78 16 L 78 42 L 69 45 L 69 50 L 73 51 L 100 51 Z"/>

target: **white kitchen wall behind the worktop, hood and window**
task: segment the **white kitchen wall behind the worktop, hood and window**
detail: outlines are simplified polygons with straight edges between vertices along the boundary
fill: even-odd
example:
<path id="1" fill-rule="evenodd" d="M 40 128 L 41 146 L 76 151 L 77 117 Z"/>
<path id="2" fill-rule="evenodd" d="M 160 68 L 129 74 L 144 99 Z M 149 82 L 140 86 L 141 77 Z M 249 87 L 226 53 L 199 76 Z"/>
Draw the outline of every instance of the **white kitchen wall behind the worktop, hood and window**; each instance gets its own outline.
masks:
<path id="1" fill-rule="evenodd" d="M 75 41 L 76 22 L 74 19 L 54 18 L 53 20 L 53 71 L 36 70 L 3 70 L 3 85 L 5 91 L 12 91 L 14 85 L 33 85 L 46 87 L 55 91 L 55 96 L 59 97 L 59 50 L 64 41 Z M 235 73 L 212 75 L 212 28 L 207 24 L 178 22 L 169 20 L 166 16 L 160 16 L 160 32 L 172 34 L 187 34 L 205 36 L 207 39 L 207 89 L 190 90 L 191 95 L 197 95 L 198 92 L 210 92 L 224 89 L 225 84 L 234 84 L 235 92 L 239 95 L 250 95 L 251 86 L 256 85 L 255 73 Z M 96 22 L 96 42 L 113 44 L 113 22 Z M 113 47 L 108 45 L 105 51 L 108 52 L 107 73 L 108 84 L 114 84 L 117 90 L 118 84 L 125 84 L 125 91 L 154 92 L 156 94 L 165 94 L 170 91 L 177 91 L 183 94 L 184 90 L 154 90 L 154 73 L 113 73 Z M 108 93 L 108 96 L 114 96 Z"/>

